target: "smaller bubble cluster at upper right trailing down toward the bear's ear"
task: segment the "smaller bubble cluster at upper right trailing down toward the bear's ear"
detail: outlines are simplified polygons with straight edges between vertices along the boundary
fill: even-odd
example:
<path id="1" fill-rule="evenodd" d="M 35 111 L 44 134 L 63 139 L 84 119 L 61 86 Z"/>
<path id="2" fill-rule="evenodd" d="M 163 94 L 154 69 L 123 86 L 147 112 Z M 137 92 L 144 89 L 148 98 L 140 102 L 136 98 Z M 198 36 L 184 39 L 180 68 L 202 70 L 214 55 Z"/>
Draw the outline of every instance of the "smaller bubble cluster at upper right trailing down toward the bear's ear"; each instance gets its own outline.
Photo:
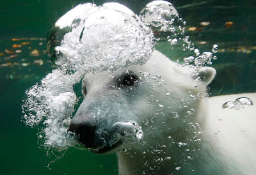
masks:
<path id="1" fill-rule="evenodd" d="M 183 66 L 191 66 L 195 68 L 195 73 L 202 68 L 202 66 L 212 65 L 212 60 L 216 60 L 217 57 L 213 56 L 218 52 L 218 45 L 212 46 L 212 52 L 203 52 L 200 54 L 200 50 L 195 49 L 194 43 L 189 39 L 189 36 L 185 36 L 186 21 L 179 17 L 179 13 L 175 9 L 172 3 L 166 1 L 153 1 L 148 3 L 140 12 L 141 21 L 150 27 L 155 34 L 164 33 L 167 34 L 167 40 L 170 42 L 171 47 L 173 45 L 182 45 L 183 51 L 189 50 L 194 52 L 195 56 L 185 57 L 183 59 Z M 157 37 L 157 36 L 155 36 Z M 160 38 L 155 38 L 157 41 Z M 173 49 L 173 47 L 172 47 Z"/>

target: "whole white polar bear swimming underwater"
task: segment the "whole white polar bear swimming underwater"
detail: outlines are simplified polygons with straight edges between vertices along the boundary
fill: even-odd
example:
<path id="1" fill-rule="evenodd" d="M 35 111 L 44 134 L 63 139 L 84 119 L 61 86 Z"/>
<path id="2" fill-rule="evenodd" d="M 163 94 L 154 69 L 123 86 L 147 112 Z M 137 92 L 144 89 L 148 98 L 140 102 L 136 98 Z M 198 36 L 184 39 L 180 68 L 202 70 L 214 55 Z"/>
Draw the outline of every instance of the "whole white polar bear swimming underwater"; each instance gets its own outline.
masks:
<path id="1" fill-rule="evenodd" d="M 256 94 L 207 96 L 214 68 L 198 72 L 154 50 L 145 65 L 87 73 L 68 128 L 84 148 L 116 153 L 119 174 L 255 174 Z"/>

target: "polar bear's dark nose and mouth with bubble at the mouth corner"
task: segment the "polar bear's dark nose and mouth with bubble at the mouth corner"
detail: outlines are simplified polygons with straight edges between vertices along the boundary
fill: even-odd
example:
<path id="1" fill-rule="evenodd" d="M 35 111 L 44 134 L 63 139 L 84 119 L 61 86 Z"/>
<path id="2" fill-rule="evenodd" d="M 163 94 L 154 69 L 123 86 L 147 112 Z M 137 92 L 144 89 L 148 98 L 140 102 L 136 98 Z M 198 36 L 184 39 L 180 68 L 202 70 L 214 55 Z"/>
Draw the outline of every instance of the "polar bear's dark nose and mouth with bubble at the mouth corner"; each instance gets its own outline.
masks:
<path id="1" fill-rule="evenodd" d="M 106 153 L 122 146 L 124 141 L 138 142 L 143 138 L 141 126 L 136 121 L 116 122 L 104 130 L 92 123 L 71 123 L 68 132 L 75 133 L 78 141 L 95 153 Z"/>

